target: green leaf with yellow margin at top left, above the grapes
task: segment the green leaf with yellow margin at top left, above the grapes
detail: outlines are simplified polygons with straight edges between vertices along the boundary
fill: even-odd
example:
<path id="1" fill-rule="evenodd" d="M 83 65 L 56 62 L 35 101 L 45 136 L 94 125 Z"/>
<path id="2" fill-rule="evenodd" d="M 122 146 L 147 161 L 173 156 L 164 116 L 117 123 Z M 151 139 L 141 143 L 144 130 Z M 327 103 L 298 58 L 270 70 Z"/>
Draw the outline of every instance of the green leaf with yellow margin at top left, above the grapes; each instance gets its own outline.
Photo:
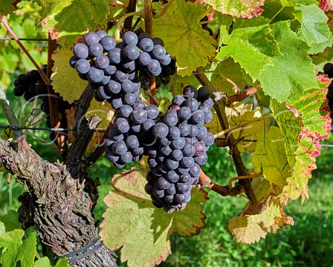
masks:
<path id="1" fill-rule="evenodd" d="M 61 44 L 76 42 L 83 33 L 106 28 L 108 1 L 105 0 L 37 0 L 42 6 L 43 30 Z"/>

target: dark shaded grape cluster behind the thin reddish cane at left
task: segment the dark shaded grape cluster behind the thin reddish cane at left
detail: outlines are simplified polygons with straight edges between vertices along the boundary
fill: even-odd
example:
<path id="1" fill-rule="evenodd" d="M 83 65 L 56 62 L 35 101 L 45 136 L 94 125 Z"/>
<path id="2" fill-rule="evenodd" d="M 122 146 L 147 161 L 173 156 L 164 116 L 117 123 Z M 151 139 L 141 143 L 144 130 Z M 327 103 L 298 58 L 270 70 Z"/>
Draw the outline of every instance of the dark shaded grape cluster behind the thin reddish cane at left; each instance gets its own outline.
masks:
<path id="1" fill-rule="evenodd" d="M 46 74 L 47 65 L 44 64 L 41 67 L 44 74 Z M 15 96 L 24 96 L 24 99 L 28 102 L 35 100 L 35 98 L 39 98 L 42 103 L 40 104 L 40 110 L 44 112 L 46 116 L 46 126 L 52 128 L 51 120 L 50 120 L 50 105 L 49 105 L 49 91 L 47 89 L 47 85 L 44 83 L 44 80 L 40 76 L 40 73 L 37 69 L 33 69 L 29 71 L 27 74 L 19 74 L 17 78 L 14 80 L 14 89 L 12 89 L 12 93 Z M 71 105 L 62 99 L 59 94 L 55 94 L 55 97 L 58 101 L 58 112 L 60 113 L 60 117 L 62 118 L 60 121 L 60 128 L 67 128 L 67 119 L 65 117 L 65 110 L 71 108 Z M 67 133 L 65 132 L 65 135 Z M 51 131 L 50 139 L 54 141 L 56 139 L 56 134 Z"/>

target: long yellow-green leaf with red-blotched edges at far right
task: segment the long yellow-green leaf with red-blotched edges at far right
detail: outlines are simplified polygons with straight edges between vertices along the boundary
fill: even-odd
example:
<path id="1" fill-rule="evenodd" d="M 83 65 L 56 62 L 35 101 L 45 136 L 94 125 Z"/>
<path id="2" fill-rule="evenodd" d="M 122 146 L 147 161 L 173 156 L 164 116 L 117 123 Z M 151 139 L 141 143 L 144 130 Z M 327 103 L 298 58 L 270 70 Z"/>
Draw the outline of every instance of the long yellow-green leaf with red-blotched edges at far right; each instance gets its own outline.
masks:
<path id="1" fill-rule="evenodd" d="M 298 148 L 294 153 L 295 165 L 293 175 L 284 188 L 284 196 L 302 201 L 308 196 L 307 182 L 311 171 L 316 169 L 316 157 L 321 153 L 320 140 L 327 137 L 331 129 L 330 113 L 325 103 L 327 87 L 311 89 L 300 98 L 291 98 L 290 103 L 302 116 L 302 132 L 299 136 Z"/>

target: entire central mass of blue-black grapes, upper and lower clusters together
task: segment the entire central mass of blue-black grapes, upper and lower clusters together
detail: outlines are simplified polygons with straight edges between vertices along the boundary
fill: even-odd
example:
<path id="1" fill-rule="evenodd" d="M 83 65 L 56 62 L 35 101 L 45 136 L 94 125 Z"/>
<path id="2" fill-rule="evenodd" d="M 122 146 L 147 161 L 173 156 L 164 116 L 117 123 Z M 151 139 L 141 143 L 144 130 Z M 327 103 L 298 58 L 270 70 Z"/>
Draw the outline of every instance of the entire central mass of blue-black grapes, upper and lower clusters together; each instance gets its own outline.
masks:
<path id="1" fill-rule="evenodd" d="M 116 45 L 112 36 L 98 31 L 85 35 L 83 42 L 74 46 L 69 64 L 80 78 L 89 81 L 97 101 L 106 100 L 116 110 L 105 140 L 106 157 L 123 168 L 147 155 L 151 171 L 145 190 L 153 204 L 167 212 L 183 209 L 191 199 L 191 185 L 198 183 L 200 166 L 207 162 L 206 152 L 214 143 L 214 136 L 204 126 L 212 120 L 210 89 L 187 85 L 161 116 L 155 105 L 138 99 L 139 89 L 145 89 L 142 77 L 168 80 L 176 72 L 160 38 L 146 33 L 137 37 L 128 31 Z"/>

